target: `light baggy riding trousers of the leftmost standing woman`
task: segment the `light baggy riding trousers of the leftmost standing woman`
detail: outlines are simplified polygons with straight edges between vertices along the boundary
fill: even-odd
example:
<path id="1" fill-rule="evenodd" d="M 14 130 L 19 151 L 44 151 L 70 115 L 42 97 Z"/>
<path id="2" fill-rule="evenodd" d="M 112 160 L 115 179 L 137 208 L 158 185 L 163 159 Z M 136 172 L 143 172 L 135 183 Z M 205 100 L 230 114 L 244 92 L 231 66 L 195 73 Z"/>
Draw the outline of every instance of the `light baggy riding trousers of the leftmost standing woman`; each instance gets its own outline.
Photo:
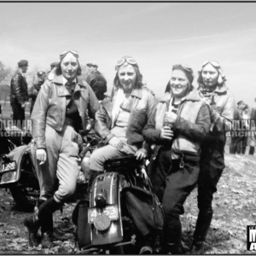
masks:
<path id="1" fill-rule="evenodd" d="M 45 129 L 47 160 L 39 165 L 36 159 L 36 146 L 32 143 L 33 162 L 40 185 L 40 199 L 48 199 L 54 195 L 55 201 L 62 202 L 73 195 L 79 166 L 79 134 L 70 125 L 64 125 L 62 131 L 55 131 L 49 125 Z M 57 179 L 59 186 L 55 191 Z"/>

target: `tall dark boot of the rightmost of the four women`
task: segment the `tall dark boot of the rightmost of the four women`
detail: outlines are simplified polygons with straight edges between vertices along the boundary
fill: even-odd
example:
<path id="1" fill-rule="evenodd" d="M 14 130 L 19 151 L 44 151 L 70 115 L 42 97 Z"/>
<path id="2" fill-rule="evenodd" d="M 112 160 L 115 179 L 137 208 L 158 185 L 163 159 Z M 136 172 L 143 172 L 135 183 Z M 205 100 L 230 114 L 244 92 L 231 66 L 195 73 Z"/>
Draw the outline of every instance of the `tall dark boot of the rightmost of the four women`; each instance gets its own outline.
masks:
<path id="1" fill-rule="evenodd" d="M 194 241 L 190 247 L 191 254 L 203 254 L 204 242 L 212 222 L 212 210 L 207 212 L 200 211 L 195 225 Z"/>

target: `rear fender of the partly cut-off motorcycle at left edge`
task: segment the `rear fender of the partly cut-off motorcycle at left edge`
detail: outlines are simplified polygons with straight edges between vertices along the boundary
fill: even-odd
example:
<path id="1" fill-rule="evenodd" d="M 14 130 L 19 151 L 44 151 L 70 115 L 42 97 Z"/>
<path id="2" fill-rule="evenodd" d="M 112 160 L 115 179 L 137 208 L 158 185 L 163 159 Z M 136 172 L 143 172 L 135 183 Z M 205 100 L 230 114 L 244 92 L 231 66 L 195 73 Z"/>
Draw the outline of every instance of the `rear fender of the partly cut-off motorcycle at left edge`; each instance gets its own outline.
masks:
<path id="1" fill-rule="evenodd" d="M 16 170 L 11 172 L 4 172 L 3 174 L 0 172 L 1 182 L 0 187 L 4 188 L 7 187 L 10 183 L 16 183 L 20 180 L 21 175 L 21 164 L 22 160 L 25 158 L 23 157 L 25 154 L 28 154 L 28 145 L 20 146 L 12 150 L 9 154 L 7 154 L 7 158 L 9 160 L 16 161 Z"/>

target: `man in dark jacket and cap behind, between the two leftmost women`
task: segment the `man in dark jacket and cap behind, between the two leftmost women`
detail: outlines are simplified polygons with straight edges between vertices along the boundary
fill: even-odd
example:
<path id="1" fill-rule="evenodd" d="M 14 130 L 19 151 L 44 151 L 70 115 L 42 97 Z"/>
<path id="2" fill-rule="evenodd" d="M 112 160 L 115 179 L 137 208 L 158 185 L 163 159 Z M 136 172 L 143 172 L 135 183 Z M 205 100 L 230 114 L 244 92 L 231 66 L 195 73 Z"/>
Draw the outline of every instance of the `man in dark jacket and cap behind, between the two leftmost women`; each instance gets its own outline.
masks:
<path id="1" fill-rule="evenodd" d="M 104 93 L 107 91 L 107 81 L 102 76 L 97 68 L 96 63 L 87 63 L 86 66 L 89 69 L 89 76 L 86 78 L 86 82 L 90 84 L 91 89 L 95 92 L 96 97 L 99 101 L 104 99 Z"/>

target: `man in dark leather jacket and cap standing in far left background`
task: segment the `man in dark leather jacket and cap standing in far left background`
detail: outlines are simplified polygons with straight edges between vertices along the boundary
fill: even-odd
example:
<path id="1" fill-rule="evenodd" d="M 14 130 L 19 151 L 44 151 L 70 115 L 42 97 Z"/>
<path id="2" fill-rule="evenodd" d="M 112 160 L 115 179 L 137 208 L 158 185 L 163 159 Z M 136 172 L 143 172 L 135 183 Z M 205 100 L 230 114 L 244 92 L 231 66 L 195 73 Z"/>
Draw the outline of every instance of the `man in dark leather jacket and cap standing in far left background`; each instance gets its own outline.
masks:
<path id="1" fill-rule="evenodd" d="M 10 105 L 13 109 L 13 119 L 17 121 L 19 128 L 22 129 L 25 120 L 25 108 L 28 101 L 27 83 L 25 73 L 27 71 L 28 61 L 18 62 L 18 70 L 10 81 Z M 20 122 L 20 124 L 19 124 Z"/>

